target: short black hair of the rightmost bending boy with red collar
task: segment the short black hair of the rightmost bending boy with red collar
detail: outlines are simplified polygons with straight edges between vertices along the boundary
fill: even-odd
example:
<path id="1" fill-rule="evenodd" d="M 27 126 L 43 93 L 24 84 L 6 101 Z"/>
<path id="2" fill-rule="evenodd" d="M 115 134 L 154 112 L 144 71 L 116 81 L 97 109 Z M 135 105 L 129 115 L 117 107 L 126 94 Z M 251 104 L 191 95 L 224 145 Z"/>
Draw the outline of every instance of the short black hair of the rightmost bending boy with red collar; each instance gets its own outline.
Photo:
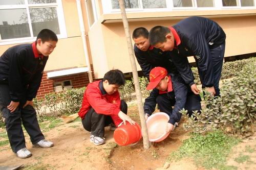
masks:
<path id="1" fill-rule="evenodd" d="M 168 27 L 156 26 L 150 30 L 150 44 L 156 45 L 157 43 L 163 43 L 166 41 L 165 36 L 170 33 Z"/>

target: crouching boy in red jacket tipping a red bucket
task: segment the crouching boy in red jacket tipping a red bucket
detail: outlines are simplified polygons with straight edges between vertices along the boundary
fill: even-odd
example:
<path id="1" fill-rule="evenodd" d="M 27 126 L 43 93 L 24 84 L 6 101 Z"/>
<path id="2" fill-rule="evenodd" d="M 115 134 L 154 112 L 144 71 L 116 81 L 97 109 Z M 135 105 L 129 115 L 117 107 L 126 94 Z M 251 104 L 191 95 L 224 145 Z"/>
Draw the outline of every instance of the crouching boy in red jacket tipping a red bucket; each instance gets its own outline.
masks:
<path id="1" fill-rule="evenodd" d="M 82 107 L 78 112 L 84 129 L 91 132 L 90 142 L 95 145 L 105 143 L 104 127 L 114 123 L 117 127 L 125 121 L 134 125 L 127 116 L 127 104 L 120 100 L 118 88 L 124 85 L 122 71 L 118 69 L 106 72 L 103 80 L 88 84 L 83 95 Z"/>

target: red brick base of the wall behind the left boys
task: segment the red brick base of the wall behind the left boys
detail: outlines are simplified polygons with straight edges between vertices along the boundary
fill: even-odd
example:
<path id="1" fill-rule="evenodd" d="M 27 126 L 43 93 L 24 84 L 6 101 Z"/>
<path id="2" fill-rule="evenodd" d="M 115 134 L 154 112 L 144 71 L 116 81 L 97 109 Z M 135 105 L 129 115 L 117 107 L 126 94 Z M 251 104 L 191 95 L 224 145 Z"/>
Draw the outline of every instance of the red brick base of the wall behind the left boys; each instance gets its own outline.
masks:
<path id="1" fill-rule="evenodd" d="M 94 79 L 93 65 L 91 65 L 91 68 L 92 68 L 92 74 Z M 37 91 L 36 98 L 40 99 L 40 98 L 43 98 L 45 94 L 54 92 L 54 88 L 53 88 L 54 83 L 68 81 L 68 80 L 71 81 L 73 88 L 84 87 L 84 86 L 87 86 L 89 83 L 89 77 L 87 72 L 48 79 L 47 72 L 44 71 L 44 74 L 42 75 L 41 85 Z"/>

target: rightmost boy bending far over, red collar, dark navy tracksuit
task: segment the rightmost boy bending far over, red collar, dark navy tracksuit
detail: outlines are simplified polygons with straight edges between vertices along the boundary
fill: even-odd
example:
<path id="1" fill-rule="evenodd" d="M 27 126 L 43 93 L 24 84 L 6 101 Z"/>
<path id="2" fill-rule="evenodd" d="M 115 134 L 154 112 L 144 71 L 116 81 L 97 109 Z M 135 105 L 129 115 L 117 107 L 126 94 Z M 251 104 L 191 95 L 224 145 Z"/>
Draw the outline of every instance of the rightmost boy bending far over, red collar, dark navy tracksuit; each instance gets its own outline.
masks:
<path id="1" fill-rule="evenodd" d="M 219 81 L 225 52 L 226 35 L 214 21 L 189 17 L 173 27 L 156 26 L 150 31 L 150 43 L 162 51 L 170 51 L 181 77 L 195 94 L 199 94 L 187 57 L 194 56 L 202 87 L 220 95 Z"/>

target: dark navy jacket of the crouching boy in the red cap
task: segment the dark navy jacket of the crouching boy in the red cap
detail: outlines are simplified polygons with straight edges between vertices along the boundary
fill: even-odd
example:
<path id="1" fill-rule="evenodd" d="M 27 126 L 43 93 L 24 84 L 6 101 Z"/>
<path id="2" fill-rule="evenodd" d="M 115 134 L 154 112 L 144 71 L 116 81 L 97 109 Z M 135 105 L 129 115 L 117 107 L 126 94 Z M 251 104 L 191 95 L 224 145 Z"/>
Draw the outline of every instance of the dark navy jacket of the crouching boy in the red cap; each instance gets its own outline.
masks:
<path id="1" fill-rule="evenodd" d="M 169 123 L 175 124 L 175 122 L 180 122 L 181 119 L 181 113 L 179 111 L 185 107 L 186 100 L 187 100 L 187 94 L 188 92 L 191 92 L 190 88 L 185 85 L 182 78 L 178 75 L 169 74 L 172 79 L 173 84 L 173 91 L 168 92 L 167 95 L 170 100 L 173 100 L 175 102 L 174 109 L 172 113 L 169 113 Z M 189 90 L 188 90 L 189 89 Z M 154 88 L 150 96 L 145 99 L 144 103 L 144 112 L 151 115 L 156 108 L 156 98 L 159 94 L 159 90 Z M 168 113 L 167 113 L 168 114 Z"/>

